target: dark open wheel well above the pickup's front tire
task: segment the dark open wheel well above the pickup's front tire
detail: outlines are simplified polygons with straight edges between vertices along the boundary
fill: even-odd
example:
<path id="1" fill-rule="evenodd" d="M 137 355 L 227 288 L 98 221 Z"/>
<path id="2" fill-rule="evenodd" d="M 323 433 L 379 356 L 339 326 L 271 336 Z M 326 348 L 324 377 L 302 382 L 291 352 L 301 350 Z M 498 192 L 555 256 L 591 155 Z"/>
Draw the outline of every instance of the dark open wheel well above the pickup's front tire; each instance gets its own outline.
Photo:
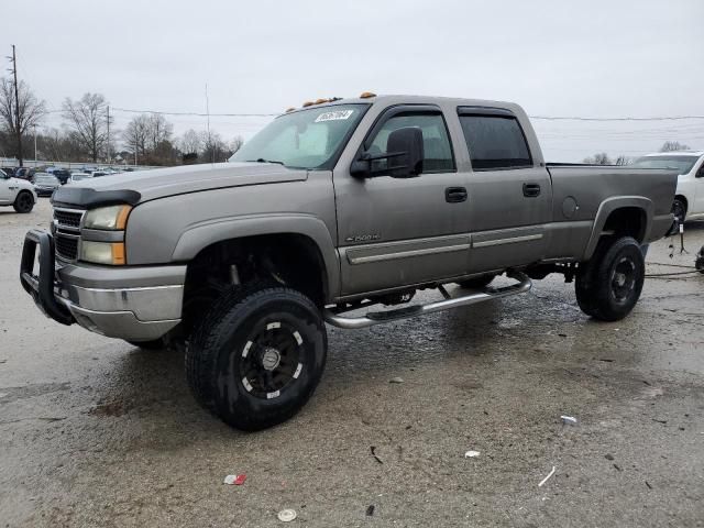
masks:
<path id="1" fill-rule="evenodd" d="M 254 280 L 285 284 L 322 307 L 328 295 L 324 262 L 317 244 L 296 233 L 216 242 L 188 263 L 184 321 L 202 314 L 226 289 Z"/>

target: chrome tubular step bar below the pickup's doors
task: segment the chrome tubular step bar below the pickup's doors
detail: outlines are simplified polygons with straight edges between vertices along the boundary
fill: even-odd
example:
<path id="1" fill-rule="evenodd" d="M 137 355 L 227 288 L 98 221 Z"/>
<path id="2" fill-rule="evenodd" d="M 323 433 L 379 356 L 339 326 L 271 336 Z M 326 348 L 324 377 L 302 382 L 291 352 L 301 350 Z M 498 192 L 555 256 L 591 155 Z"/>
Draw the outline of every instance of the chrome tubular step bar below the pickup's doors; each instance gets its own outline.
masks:
<path id="1" fill-rule="evenodd" d="M 525 294 L 532 287 L 532 282 L 524 273 L 515 272 L 509 275 L 509 277 L 518 280 L 518 283 L 512 284 L 510 286 L 504 286 L 502 288 L 485 288 L 470 295 L 446 298 L 427 305 L 414 305 L 387 311 L 371 311 L 362 317 L 343 317 L 340 312 L 326 309 L 322 312 L 322 317 L 328 324 L 353 330 L 356 328 L 381 324 L 383 322 L 397 321 L 409 317 L 425 316 L 436 311 L 450 310 L 452 308 L 459 308 L 460 306 L 475 305 L 477 302 L 484 302 L 485 300 Z"/>

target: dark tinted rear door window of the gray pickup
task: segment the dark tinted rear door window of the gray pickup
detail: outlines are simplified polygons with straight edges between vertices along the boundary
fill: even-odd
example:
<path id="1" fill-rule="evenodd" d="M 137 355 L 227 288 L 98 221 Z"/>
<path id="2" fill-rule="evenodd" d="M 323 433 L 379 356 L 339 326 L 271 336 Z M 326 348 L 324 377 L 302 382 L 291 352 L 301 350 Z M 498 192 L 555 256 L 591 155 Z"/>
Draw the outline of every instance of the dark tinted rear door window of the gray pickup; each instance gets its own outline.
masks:
<path id="1" fill-rule="evenodd" d="M 513 112 L 499 108 L 460 107 L 458 114 L 473 170 L 532 166 L 526 135 Z"/>

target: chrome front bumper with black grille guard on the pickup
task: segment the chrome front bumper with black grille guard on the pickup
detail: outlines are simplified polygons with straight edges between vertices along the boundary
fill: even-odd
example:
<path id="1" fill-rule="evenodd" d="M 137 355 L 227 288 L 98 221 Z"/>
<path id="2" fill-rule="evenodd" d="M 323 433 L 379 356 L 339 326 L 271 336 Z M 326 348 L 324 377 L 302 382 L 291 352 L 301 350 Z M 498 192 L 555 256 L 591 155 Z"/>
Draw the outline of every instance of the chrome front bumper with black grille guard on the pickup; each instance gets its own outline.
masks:
<path id="1" fill-rule="evenodd" d="M 38 230 L 26 233 L 20 266 L 22 287 L 47 317 L 129 341 L 158 339 L 180 322 L 185 277 L 179 265 L 57 267 L 54 239 Z"/>

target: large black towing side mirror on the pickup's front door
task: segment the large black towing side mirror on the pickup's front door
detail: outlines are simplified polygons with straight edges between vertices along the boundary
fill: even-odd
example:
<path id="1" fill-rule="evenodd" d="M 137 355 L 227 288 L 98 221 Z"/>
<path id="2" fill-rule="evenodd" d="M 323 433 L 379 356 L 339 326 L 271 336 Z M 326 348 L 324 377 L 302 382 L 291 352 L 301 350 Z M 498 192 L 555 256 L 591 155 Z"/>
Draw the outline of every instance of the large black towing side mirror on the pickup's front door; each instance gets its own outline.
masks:
<path id="1" fill-rule="evenodd" d="M 364 152 L 352 162 L 350 174 L 360 178 L 386 175 L 393 178 L 413 178 L 422 172 L 424 158 L 422 131 L 418 127 L 406 127 L 388 134 L 386 153 L 372 155 Z M 376 160 L 387 160 L 386 168 L 373 169 L 372 162 Z"/>

